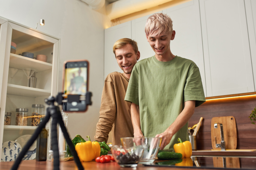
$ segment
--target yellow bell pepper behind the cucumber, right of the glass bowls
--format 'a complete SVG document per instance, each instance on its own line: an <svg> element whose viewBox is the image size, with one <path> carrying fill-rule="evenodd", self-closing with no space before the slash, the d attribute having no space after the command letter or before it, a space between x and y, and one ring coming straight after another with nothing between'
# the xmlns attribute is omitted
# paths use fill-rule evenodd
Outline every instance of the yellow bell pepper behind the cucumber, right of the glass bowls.
<svg viewBox="0 0 256 170"><path fill-rule="evenodd" d="M178 138L180 143L174 144L175 153L181 153L182 158L190 158L192 156L192 145L189 141L182 142L180 138Z"/></svg>

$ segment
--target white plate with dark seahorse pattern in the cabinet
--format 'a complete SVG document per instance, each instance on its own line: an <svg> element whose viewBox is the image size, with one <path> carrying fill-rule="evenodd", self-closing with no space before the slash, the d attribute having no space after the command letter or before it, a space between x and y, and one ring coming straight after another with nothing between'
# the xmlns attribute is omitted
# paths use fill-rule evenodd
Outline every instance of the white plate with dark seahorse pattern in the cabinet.
<svg viewBox="0 0 256 170"><path fill-rule="evenodd" d="M1 162L15 161L20 154L22 147L18 142L7 141L2 144Z"/></svg>

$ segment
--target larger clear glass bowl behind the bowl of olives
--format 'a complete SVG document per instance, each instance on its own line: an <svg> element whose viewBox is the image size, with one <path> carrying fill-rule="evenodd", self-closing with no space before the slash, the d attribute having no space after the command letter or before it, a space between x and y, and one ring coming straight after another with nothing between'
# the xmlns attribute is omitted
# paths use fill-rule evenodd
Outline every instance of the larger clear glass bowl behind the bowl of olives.
<svg viewBox="0 0 256 170"><path fill-rule="evenodd" d="M121 138L122 146L129 148L132 146L143 146L144 153L140 159L140 164L153 163L160 148L162 138Z"/></svg>

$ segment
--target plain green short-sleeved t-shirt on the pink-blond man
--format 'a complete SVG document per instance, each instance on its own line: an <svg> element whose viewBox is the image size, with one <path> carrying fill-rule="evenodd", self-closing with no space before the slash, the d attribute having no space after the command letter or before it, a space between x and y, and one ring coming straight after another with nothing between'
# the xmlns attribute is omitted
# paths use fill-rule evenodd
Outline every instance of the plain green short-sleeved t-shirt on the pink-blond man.
<svg viewBox="0 0 256 170"><path fill-rule="evenodd" d="M189 59L176 56L168 62L155 56L143 59L134 66L125 101L140 106L140 126L145 137L163 133L184 108L184 102L195 100L195 107L205 102L204 89L198 66ZM165 147L189 140L188 123Z"/></svg>

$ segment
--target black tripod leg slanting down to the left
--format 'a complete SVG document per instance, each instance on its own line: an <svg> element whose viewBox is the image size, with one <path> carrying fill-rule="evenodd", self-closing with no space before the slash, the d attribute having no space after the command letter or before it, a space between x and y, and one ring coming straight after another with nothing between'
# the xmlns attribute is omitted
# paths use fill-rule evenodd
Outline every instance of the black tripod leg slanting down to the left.
<svg viewBox="0 0 256 170"><path fill-rule="evenodd" d="M45 125L47 124L49 119L50 119L50 113L47 111L47 114L46 114L43 122L39 123L38 128L35 130L35 133L32 135L32 137L29 139L29 141L23 147L23 149L20 152L19 156L17 157L15 163L12 165L11 170L17 170L18 169L18 167L20 165L20 162L22 161L22 158L25 156L26 152L29 150L29 147L32 146L32 144L35 142L39 133L41 133L42 129L45 127Z"/></svg>

